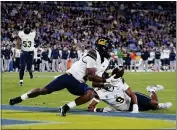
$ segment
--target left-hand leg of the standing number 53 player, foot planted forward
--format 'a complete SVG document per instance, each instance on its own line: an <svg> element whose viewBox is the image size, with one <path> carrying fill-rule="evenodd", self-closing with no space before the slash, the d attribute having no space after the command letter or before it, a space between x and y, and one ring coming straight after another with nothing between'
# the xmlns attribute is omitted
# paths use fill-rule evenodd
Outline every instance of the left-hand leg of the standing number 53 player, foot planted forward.
<svg viewBox="0 0 177 130"><path fill-rule="evenodd" d="M23 86L23 76L26 66L26 52L21 52L20 54L20 72L19 72L19 78L20 78L20 86Z"/></svg>

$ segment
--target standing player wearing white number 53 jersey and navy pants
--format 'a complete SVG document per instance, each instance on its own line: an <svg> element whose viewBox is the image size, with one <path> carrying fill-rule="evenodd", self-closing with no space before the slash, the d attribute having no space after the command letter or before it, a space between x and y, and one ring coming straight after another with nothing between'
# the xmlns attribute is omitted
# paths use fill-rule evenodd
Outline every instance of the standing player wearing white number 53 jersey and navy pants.
<svg viewBox="0 0 177 130"><path fill-rule="evenodd" d="M32 64L34 58L34 39L36 36L36 32L32 31L32 27L30 23L26 22L23 31L19 31L17 37L17 49L20 49L21 46L21 54L20 54L20 86L23 86L23 76L25 67L27 65L27 70L29 72L30 78L33 78L32 73Z"/></svg>

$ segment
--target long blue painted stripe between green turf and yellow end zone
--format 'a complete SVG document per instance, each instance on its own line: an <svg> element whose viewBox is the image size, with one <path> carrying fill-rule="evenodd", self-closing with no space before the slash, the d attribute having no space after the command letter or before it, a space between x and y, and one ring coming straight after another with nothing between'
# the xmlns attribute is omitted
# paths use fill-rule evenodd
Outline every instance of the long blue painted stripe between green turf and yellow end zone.
<svg viewBox="0 0 177 130"><path fill-rule="evenodd" d="M35 111L35 112L54 112L57 113L57 108L46 108L46 107L29 107L29 106L9 106L2 105L2 110L16 110L16 111ZM118 116L127 118L145 118L145 119L159 119L159 120L176 120L176 114L159 114L159 113L129 113L129 112L109 112L109 113L94 113L88 112L81 109L72 109L70 114L81 114L81 115L95 115L95 116Z"/></svg>

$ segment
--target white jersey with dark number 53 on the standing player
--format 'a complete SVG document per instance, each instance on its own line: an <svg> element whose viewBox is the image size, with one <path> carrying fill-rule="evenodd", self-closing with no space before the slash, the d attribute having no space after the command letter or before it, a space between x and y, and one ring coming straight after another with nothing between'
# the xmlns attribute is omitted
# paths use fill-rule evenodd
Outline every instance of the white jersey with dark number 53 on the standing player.
<svg viewBox="0 0 177 130"><path fill-rule="evenodd" d="M18 36L22 41L21 50L22 51L34 51L34 39L36 36L36 32L30 32L29 34L25 34L24 31L19 31Z"/></svg>

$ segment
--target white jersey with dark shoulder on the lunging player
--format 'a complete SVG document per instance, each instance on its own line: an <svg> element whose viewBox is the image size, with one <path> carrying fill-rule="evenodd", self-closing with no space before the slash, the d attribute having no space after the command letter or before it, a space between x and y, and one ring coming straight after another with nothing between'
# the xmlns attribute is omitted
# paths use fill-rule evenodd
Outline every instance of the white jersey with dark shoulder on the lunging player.
<svg viewBox="0 0 177 130"><path fill-rule="evenodd" d="M89 52L95 53L96 58L91 58L88 54ZM101 57L98 51L91 50L86 52L78 61L76 61L67 72L72 74L72 76L79 82L84 82L84 76L86 76L87 68L97 68L101 65Z"/></svg>

